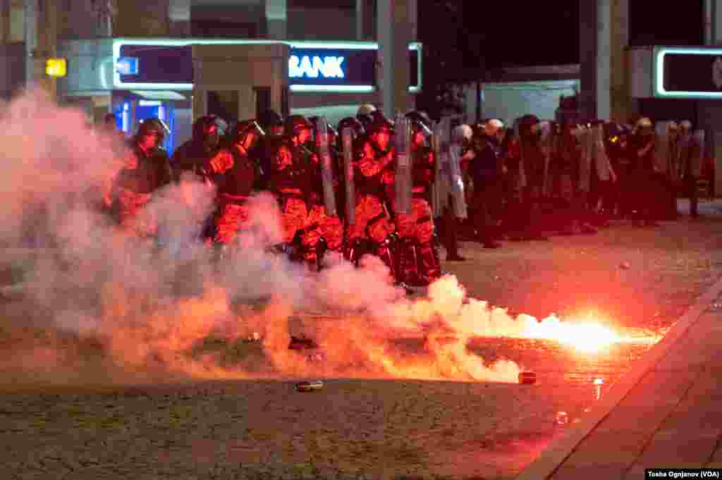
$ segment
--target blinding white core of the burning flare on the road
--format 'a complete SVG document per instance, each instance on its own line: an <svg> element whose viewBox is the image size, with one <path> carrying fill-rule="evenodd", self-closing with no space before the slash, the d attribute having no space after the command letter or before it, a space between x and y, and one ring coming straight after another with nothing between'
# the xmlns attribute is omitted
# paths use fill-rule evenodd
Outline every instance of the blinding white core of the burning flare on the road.
<svg viewBox="0 0 722 480"><path fill-rule="evenodd" d="M600 352L622 341L617 333L600 323L562 322L556 316L545 318L539 323L529 323L523 336L529 339L558 341L580 352L590 353Z"/></svg>

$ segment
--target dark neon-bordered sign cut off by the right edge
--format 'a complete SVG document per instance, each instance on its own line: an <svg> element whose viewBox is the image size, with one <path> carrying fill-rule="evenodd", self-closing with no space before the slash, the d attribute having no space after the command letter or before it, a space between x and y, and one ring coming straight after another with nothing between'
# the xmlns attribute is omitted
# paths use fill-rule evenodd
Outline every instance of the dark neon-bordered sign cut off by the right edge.
<svg viewBox="0 0 722 480"><path fill-rule="evenodd" d="M653 72L655 97L722 99L722 48L655 47Z"/></svg>

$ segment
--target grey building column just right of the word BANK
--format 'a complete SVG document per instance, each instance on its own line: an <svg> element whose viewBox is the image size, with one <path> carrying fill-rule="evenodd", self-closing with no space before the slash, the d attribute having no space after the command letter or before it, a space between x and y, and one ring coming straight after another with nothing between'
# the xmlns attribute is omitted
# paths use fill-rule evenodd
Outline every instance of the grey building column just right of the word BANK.
<svg viewBox="0 0 722 480"><path fill-rule="evenodd" d="M414 97L409 94L409 43L412 41L412 13L415 0L378 0L376 17L378 56L380 61L377 79L380 87L380 109L389 118L414 108Z"/></svg>

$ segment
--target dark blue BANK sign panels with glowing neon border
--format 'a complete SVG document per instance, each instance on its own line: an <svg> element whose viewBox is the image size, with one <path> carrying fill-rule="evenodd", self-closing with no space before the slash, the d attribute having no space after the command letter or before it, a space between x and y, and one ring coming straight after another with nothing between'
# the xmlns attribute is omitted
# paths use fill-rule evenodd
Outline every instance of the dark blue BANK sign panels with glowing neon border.
<svg viewBox="0 0 722 480"><path fill-rule="evenodd" d="M113 40L118 90L193 90L192 45L277 43L269 40ZM291 42L292 92L374 92L378 43ZM421 45L409 45L409 91L421 90Z"/></svg>

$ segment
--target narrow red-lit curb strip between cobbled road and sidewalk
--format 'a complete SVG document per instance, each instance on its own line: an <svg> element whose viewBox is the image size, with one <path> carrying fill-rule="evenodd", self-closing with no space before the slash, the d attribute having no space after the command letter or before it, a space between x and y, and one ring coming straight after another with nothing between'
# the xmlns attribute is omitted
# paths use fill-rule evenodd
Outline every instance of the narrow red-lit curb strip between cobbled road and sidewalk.
<svg viewBox="0 0 722 480"><path fill-rule="evenodd" d="M554 440L541 455L516 477L516 480L547 480L570 457L575 448L611 413L630 393L642 378L664 358L674 344L682 339L685 333L708 310L710 303L722 294L722 278L718 279L705 293L697 297L695 303L677 320L661 341L653 346L639 362L609 389L601 401L593 406L589 415L580 424L567 430L565 435Z"/></svg>

